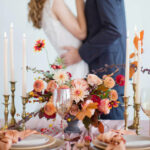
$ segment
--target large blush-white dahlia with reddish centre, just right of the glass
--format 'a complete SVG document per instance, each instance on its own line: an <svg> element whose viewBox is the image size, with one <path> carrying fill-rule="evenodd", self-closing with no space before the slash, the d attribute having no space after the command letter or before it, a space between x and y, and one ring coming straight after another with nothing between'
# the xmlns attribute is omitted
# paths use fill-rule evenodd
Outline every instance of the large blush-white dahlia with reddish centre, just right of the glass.
<svg viewBox="0 0 150 150"><path fill-rule="evenodd" d="M71 89L71 99L75 100L76 103L80 102L80 100L84 101L84 98L88 95L89 92L80 85Z"/></svg>

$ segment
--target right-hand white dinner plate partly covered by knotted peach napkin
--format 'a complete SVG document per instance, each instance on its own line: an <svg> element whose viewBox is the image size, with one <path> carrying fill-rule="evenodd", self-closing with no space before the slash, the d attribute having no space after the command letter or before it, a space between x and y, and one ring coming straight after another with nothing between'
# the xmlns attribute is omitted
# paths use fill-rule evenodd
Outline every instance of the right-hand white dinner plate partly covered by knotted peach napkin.
<svg viewBox="0 0 150 150"><path fill-rule="evenodd" d="M150 137L147 136L136 136L136 135L125 135L123 136L126 140L127 150L150 150ZM106 149L107 143L99 140L94 140L93 144L95 147Z"/></svg>

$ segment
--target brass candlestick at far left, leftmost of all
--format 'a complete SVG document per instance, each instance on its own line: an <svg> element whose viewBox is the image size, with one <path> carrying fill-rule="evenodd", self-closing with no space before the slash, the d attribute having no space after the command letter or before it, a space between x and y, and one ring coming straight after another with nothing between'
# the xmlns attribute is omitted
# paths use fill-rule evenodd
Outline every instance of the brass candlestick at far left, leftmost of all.
<svg viewBox="0 0 150 150"><path fill-rule="evenodd" d="M9 111L8 111L8 105L9 105L8 101L9 101L9 95L4 95L4 99L5 99L5 103L4 103L4 105L5 105L5 111L4 111L5 125L4 125L4 129L6 130L6 129L8 129L8 113L9 113Z"/></svg>

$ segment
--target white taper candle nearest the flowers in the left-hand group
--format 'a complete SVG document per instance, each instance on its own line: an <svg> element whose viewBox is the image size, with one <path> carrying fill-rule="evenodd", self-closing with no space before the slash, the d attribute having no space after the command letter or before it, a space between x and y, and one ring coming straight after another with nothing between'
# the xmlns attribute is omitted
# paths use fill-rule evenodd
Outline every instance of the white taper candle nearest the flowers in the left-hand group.
<svg viewBox="0 0 150 150"><path fill-rule="evenodd" d="M26 97L27 79L26 79L26 35L23 34L23 62L22 62L22 96Z"/></svg>

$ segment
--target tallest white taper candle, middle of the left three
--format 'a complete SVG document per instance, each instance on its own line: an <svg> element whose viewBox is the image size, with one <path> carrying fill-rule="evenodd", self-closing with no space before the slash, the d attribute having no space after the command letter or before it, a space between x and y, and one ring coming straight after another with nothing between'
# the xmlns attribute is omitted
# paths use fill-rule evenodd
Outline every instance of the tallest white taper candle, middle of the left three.
<svg viewBox="0 0 150 150"><path fill-rule="evenodd" d="M15 81L14 74L14 47L13 47L13 23L10 24L10 72L11 72L11 81Z"/></svg>

